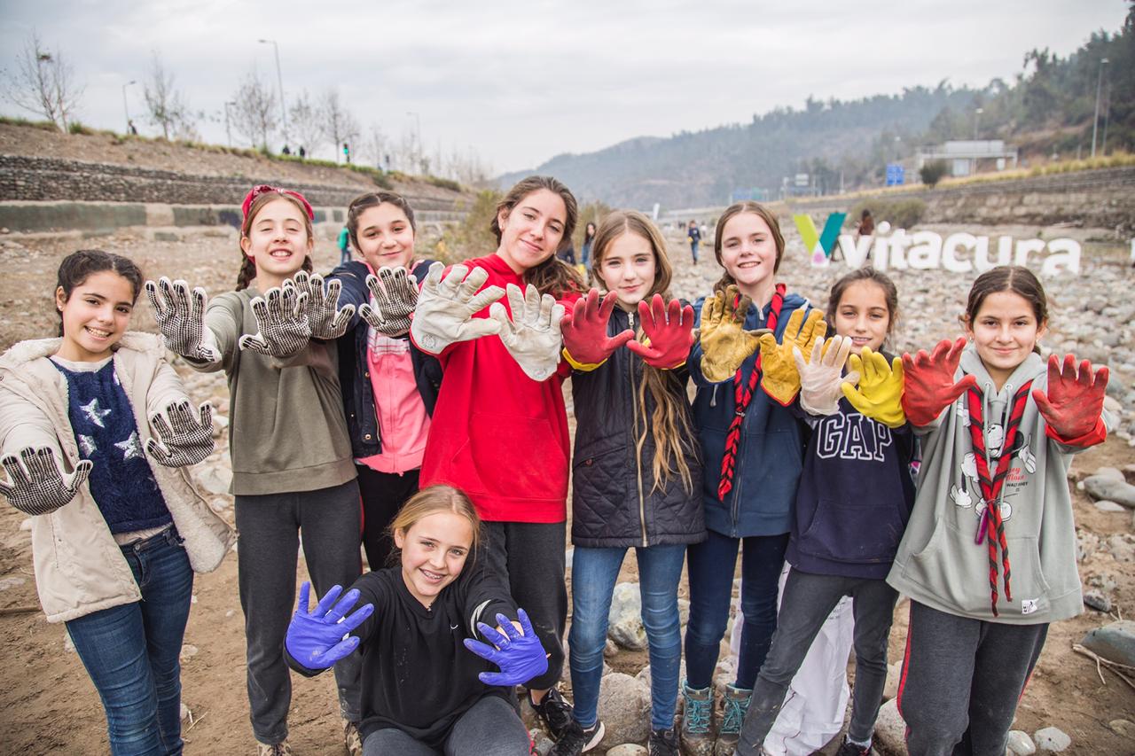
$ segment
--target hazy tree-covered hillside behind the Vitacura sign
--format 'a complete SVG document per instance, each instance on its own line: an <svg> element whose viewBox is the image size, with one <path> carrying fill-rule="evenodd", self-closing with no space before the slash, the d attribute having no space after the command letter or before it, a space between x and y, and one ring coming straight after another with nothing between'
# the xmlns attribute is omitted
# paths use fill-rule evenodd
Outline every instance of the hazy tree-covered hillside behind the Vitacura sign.
<svg viewBox="0 0 1135 756"><path fill-rule="evenodd" d="M809 174L823 193L880 186L893 160L907 163L908 182L917 180L917 149L948 140L1004 140L1028 165L1087 157L1098 83L1100 151L1135 151L1135 5L1118 32L1092 34L1067 58L1029 50L1023 64L1011 82L975 89L943 78L854 101L808 98L802 109L776 108L748 124L560 154L496 183L506 187L529 173L552 174L583 201L675 209L722 204L739 188L777 198L782 180L798 173Z"/></svg>

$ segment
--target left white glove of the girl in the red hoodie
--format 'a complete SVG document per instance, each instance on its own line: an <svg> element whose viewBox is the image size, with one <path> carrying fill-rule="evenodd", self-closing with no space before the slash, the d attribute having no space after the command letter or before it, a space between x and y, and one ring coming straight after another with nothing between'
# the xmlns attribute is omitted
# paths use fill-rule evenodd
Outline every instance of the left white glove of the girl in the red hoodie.
<svg viewBox="0 0 1135 756"><path fill-rule="evenodd" d="M469 272L465 266L453 266L444 279L445 263L429 267L418 305L410 325L410 335L422 350L440 354L449 344L468 342L481 336L501 333L501 322L494 318L473 318L486 306L504 296L499 286L487 286L478 293L489 274L484 268Z"/></svg>

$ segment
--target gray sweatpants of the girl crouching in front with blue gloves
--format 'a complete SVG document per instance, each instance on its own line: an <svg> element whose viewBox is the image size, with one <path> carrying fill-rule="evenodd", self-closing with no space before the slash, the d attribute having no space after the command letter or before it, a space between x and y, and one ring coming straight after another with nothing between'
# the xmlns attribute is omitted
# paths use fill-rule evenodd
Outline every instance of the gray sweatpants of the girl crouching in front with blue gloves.
<svg viewBox="0 0 1135 756"><path fill-rule="evenodd" d="M528 731L512 704L497 696L485 696L462 714L442 748L423 742L393 728L376 730L362 744L362 756L527 756Z"/></svg>

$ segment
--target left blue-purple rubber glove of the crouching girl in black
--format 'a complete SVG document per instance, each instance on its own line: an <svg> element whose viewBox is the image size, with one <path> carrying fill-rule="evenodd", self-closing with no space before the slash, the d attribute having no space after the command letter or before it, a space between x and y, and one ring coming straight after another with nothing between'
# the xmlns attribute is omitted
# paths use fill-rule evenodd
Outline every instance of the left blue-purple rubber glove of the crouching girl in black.
<svg viewBox="0 0 1135 756"><path fill-rule="evenodd" d="M292 658L309 670L326 670L359 647L361 641L356 636L343 636L362 624L373 613L375 605L364 604L354 614L344 616L359 600L359 591L352 589L338 600L343 587L333 586L316 610L309 612L310 591L310 582L300 586L300 604L287 625L284 647Z"/></svg>

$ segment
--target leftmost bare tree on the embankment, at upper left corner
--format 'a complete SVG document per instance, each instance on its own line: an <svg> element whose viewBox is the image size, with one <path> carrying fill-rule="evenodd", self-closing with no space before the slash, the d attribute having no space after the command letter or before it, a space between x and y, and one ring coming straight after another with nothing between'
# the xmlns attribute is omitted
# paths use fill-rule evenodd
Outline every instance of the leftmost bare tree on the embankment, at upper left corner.
<svg viewBox="0 0 1135 756"><path fill-rule="evenodd" d="M67 131L86 87L75 83L74 72L61 52L43 47L40 35L32 35L16 58L16 70L6 73L5 96Z"/></svg>

